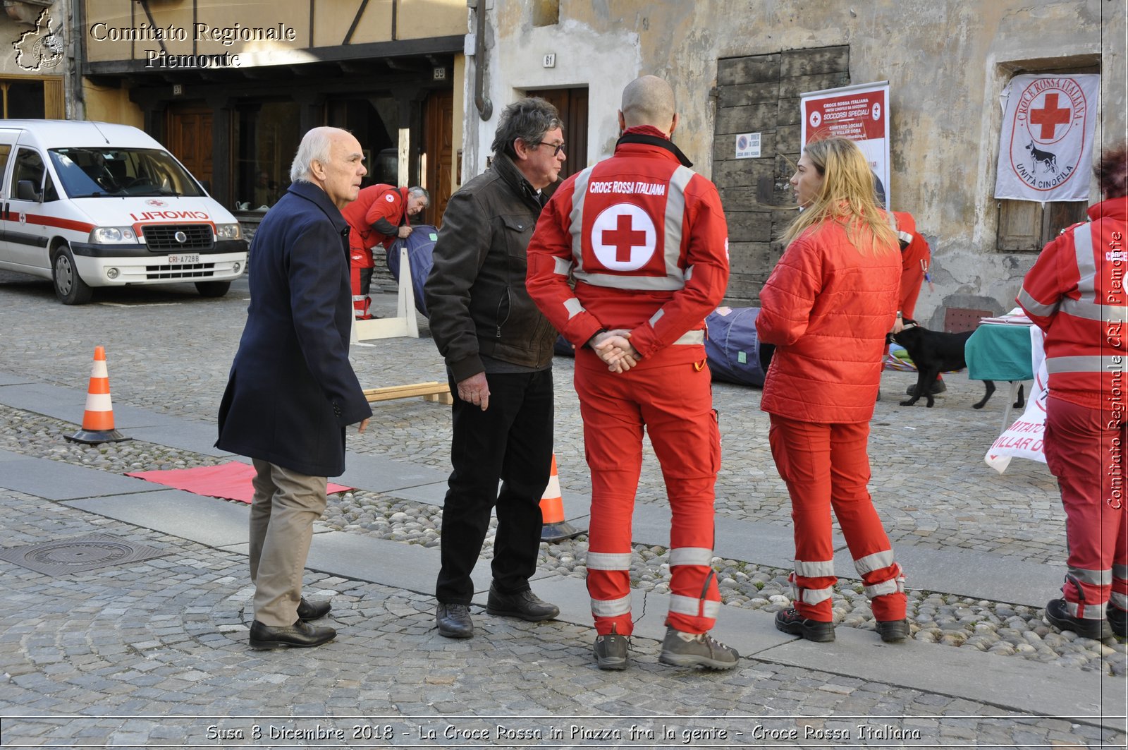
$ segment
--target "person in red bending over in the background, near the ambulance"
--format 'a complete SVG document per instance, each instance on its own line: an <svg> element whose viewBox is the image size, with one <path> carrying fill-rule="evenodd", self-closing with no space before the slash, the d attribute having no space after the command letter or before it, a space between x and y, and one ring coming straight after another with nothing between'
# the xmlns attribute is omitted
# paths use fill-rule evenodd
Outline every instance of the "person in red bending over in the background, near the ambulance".
<svg viewBox="0 0 1128 750"><path fill-rule="evenodd" d="M349 223L349 265L352 273L353 313L359 320L370 319L372 304L368 296L372 285L376 261L372 248L384 245L387 250L397 237L412 233L409 217L428 207L430 198L422 188L369 185L360 198L341 213Z"/></svg>

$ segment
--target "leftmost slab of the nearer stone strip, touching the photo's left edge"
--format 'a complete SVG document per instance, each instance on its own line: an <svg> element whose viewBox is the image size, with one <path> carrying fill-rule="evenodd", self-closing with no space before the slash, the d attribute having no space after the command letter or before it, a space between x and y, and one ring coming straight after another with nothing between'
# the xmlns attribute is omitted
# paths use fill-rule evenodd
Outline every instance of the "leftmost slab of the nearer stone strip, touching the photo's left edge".
<svg viewBox="0 0 1128 750"><path fill-rule="evenodd" d="M49 500L80 497L152 492L160 487L132 477L120 477L97 469L86 469L50 459L6 461L0 487L35 495Z"/></svg>

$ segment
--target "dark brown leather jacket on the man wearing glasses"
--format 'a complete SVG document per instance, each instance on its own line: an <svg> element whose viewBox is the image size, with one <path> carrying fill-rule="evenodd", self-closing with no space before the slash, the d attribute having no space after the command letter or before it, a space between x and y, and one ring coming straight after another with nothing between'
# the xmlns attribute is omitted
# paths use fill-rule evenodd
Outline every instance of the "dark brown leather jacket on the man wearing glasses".
<svg viewBox="0 0 1128 750"><path fill-rule="evenodd" d="M526 248L541 195L504 154L450 197L424 287L431 335L456 382L485 370L479 355L548 367L556 330L525 288Z"/></svg>

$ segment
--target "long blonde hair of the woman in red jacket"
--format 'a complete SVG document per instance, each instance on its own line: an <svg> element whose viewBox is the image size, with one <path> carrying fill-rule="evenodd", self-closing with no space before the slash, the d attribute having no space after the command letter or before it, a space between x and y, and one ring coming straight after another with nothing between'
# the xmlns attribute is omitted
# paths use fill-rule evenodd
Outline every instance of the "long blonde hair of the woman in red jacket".
<svg viewBox="0 0 1128 750"><path fill-rule="evenodd" d="M873 172L862 149L847 138L811 141L803 149L822 176L819 193L782 235L791 244L808 229L843 221L846 238L861 253L878 254L898 246L889 217L873 192Z"/></svg>

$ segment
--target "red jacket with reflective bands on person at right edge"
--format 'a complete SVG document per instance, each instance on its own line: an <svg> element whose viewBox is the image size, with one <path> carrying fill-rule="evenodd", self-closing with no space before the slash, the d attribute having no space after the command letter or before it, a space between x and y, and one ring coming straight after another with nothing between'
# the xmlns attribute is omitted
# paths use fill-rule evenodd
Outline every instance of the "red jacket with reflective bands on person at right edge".
<svg viewBox="0 0 1128 750"><path fill-rule="evenodd" d="M1042 248L1016 302L1046 332L1050 394L1122 412L1128 198L1102 201L1089 216Z"/></svg>

